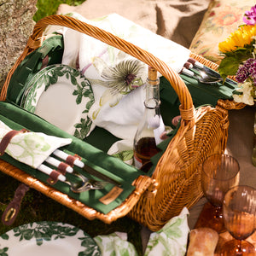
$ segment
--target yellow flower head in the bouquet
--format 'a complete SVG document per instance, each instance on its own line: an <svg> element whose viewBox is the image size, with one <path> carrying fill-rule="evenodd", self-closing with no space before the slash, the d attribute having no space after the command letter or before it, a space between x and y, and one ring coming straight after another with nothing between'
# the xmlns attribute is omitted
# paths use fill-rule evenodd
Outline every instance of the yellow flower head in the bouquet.
<svg viewBox="0 0 256 256"><path fill-rule="evenodd" d="M240 26L236 32L230 34L230 37L218 44L219 51L225 53L236 50L238 47L244 47L251 44L253 36L256 35L256 25Z"/></svg>

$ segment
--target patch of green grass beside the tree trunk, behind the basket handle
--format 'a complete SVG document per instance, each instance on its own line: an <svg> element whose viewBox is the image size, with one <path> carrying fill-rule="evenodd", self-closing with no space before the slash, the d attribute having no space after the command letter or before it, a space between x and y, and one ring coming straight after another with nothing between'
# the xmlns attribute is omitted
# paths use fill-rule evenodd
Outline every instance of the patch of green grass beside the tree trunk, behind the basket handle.
<svg viewBox="0 0 256 256"><path fill-rule="evenodd" d="M74 0L55 0L55 1L38 0L38 3L37 3L38 11L34 15L33 20L38 22L38 20L41 20L45 16L55 15L55 13L61 3L67 3L68 5L79 5L81 3L84 3L84 1L85 0L78 0L78 1L74 1Z"/></svg>

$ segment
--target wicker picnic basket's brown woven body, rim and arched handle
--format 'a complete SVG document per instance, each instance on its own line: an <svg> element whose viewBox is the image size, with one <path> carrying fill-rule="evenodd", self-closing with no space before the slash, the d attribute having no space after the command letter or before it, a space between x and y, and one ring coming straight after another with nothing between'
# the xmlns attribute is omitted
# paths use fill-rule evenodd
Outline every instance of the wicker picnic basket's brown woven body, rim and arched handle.
<svg viewBox="0 0 256 256"><path fill-rule="evenodd" d="M190 208L201 198L201 163L210 154L224 152L229 128L228 110L243 108L243 104L219 100L215 108L205 106L195 109L183 80L166 63L109 32L64 15L51 15L38 21L32 36L28 39L26 49L9 72L1 92L1 101L6 100L9 80L16 67L26 55L41 46L44 29L49 25L67 26L83 32L156 68L172 84L181 102L180 127L160 158L152 177L138 177L133 183L136 188L134 192L108 214L96 212L95 209L38 181L3 160L0 160L0 170L90 220L98 218L110 224L128 214L148 229L160 230L170 218L179 214L183 207ZM218 67L201 56L193 54L191 56L212 69Z"/></svg>

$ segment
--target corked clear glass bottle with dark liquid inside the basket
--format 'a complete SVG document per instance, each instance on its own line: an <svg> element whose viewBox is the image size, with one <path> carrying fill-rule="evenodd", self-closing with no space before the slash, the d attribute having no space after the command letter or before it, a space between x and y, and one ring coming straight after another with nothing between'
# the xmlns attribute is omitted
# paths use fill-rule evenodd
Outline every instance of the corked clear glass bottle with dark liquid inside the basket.
<svg viewBox="0 0 256 256"><path fill-rule="evenodd" d="M157 144L161 142L160 134L165 131L165 125L160 116L160 79L154 67L148 67L146 84L145 111L143 119L137 127L134 137L134 166L148 172L152 163L150 158L160 149Z"/></svg>

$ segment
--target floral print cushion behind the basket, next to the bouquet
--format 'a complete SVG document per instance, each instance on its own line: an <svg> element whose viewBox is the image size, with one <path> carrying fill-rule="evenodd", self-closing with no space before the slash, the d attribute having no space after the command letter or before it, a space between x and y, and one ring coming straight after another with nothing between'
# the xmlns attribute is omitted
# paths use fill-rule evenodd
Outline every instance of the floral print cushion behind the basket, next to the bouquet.
<svg viewBox="0 0 256 256"><path fill-rule="evenodd" d="M218 43L224 41L242 23L242 17L254 0L211 0L189 49L210 61L220 63Z"/></svg>

